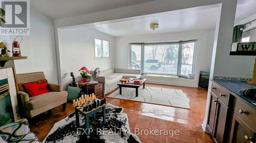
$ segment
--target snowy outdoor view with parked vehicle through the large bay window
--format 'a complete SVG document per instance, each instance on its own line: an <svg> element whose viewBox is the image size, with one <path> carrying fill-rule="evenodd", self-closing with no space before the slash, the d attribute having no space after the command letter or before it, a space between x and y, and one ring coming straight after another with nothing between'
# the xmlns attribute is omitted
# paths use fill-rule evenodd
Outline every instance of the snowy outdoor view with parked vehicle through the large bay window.
<svg viewBox="0 0 256 143"><path fill-rule="evenodd" d="M192 74L195 42L131 44L131 69L148 74Z"/></svg>

